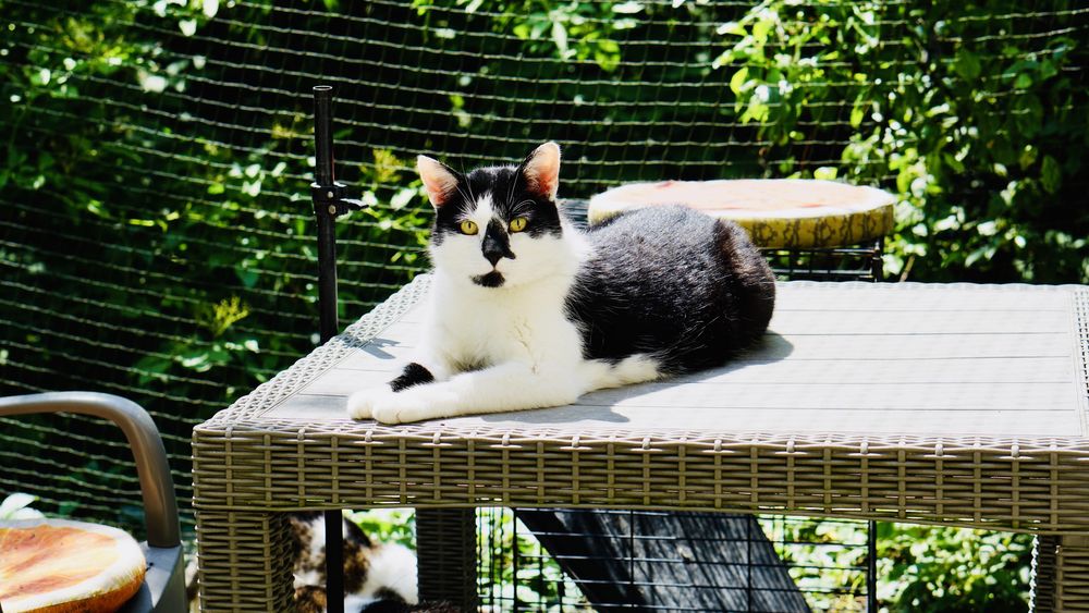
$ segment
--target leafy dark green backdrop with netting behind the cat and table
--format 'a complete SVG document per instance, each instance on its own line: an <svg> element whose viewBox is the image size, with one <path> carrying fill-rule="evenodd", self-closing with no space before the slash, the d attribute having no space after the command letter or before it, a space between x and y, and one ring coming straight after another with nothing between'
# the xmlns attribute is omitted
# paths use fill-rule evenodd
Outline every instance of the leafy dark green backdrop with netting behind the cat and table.
<svg viewBox="0 0 1089 613"><path fill-rule="evenodd" d="M878 185L898 196L893 279L1089 282L1079 2L0 0L0 393L136 400L183 500L192 425L316 342L318 83L371 204L340 225L343 319L426 268L417 152L467 168L544 139L565 197ZM91 420L4 420L0 490L132 525L125 453ZM885 534L886 600L1020 598L1024 538L964 534Z"/></svg>

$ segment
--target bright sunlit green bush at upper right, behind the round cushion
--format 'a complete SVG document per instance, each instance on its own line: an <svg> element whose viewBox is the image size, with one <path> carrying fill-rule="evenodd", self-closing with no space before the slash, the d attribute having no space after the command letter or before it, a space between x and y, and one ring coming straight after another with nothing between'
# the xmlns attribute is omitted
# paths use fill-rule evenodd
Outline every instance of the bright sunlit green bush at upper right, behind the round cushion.
<svg viewBox="0 0 1089 613"><path fill-rule="evenodd" d="M894 273L1086 283L1082 41L994 36L1018 17L988 16L1020 7L767 0L719 28L715 64L734 70L741 121L779 147L853 100L841 175L900 194ZM784 157L776 174L807 175Z"/></svg>

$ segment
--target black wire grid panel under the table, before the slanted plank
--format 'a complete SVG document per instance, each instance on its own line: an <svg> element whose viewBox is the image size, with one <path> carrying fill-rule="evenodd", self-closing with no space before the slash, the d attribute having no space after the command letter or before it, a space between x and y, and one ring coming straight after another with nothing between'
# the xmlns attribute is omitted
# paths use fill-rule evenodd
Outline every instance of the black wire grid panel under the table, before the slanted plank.
<svg viewBox="0 0 1089 613"><path fill-rule="evenodd" d="M533 513L478 512L481 610L867 610L865 522Z"/></svg>

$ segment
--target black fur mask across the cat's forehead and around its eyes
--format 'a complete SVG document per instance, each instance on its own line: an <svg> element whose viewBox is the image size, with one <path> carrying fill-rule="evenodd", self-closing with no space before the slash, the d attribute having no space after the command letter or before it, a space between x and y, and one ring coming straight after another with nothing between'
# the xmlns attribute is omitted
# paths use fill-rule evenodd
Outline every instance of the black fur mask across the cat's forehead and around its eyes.
<svg viewBox="0 0 1089 613"><path fill-rule="evenodd" d="M523 167L481 168L457 177L457 192L452 194L435 216L435 226L431 230L431 241L442 244L450 234L461 234L458 224L462 216L476 209L477 200L485 195L491 195L491 206L504 222L516 217L526 218L526 229L523 232L530 236L543 234L560 235L560 211L547 195L537 194L528 188L523 174ZM505 257L517 257L510 253L510 236L506 223L497 224L495 230L505 245ZM492 231L489 224L488 232ZM485 229L481 229L484 231ZM481 257L484 257L481 255Z"/></svg>

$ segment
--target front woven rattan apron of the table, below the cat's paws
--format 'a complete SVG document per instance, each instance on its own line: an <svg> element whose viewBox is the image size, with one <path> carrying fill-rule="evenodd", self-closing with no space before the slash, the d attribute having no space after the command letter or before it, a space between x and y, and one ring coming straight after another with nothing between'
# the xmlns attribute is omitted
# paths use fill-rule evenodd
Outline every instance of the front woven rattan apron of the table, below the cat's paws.
<svg viewBox="0 0 1089 613"><path fill-rule="evenodd" d="M778 512L1089 534L1089 443L233 429L194 441L198 510L575 506ZM923 443L923 444L919 444ZM1074 444L1076 443L1076 444Z"/></svg>

